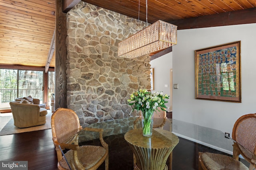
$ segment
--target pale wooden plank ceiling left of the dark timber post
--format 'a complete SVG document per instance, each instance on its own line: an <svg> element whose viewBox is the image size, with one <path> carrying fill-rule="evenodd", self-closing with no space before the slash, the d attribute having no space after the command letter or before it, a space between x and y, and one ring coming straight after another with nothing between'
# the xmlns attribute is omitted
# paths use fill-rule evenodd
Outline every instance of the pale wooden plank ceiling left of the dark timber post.
<svg viewBox="0 0 256 170"><path fill-rule="evenodd" d="M0 64L45 66L54 13L55 0L0 0Z"/></svg>

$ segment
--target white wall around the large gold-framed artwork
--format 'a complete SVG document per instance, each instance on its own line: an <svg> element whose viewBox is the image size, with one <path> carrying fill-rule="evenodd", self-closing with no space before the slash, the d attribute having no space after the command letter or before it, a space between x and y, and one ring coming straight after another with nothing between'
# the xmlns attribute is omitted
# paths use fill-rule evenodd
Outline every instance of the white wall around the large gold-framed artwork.
<svg viewBox="0 0 256 170"><path fill-rule="evenodd" d="M172 48L172 117L232 134L240 116L256 112L256 23L178 30ZM241 41L242 103L195 99L195 50ZM161 58L161 57L160 57Z"/></svg>

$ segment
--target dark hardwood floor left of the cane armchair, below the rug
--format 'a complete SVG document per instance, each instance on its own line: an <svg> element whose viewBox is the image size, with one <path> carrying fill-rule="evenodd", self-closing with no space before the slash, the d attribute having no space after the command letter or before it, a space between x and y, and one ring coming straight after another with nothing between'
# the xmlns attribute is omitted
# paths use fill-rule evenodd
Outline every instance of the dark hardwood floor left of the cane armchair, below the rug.
<svg viewBox="0 0 256 170"><path fill-rule="evenodd" d="M29 170L57 170L52 130L0 136L0 160L28 161Z"/></svg>

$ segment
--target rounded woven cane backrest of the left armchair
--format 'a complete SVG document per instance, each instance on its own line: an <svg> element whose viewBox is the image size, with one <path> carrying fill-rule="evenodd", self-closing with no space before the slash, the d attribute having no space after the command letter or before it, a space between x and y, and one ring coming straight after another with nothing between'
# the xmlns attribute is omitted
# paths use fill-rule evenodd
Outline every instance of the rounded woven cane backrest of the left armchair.
<svg viewBox="0 0 256 170"><path fill-rule="evenodd" d="M77 114L71 109L58 108L52 114L52 136L63 143L81 128Z"/></svg>

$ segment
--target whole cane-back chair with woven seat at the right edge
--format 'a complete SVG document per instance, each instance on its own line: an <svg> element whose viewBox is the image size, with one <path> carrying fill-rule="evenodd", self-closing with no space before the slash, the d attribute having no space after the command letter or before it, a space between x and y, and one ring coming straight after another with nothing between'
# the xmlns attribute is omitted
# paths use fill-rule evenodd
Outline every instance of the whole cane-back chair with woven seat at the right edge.
<svg viewBox="0 0 256 170"><path fill-rule="evenodd" d="M233 158L222 154L199 152L199 170L248 170L238 161L241 154L250 163L249 170L255 168L256 163L256 113L247 114L237 119L232 131Z"/></svg>

